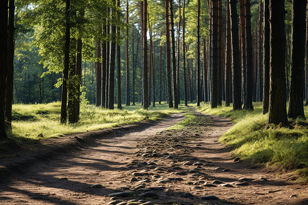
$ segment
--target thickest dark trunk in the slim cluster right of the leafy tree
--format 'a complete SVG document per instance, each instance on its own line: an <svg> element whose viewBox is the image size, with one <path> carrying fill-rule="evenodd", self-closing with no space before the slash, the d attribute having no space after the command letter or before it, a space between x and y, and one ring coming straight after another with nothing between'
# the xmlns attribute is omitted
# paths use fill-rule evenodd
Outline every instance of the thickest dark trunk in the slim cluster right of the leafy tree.
<svg viewBox="0 0 308 205"><path fill-rule="evenodd" d="M114 0L116 4L116 0ZM115 18L116 10L112 10L112 20ZM110 45L110 68L109 68L109 86L108 86L108 108L114 109L114 70L116 64L116 26L112 24L111 45Z"/></svg>

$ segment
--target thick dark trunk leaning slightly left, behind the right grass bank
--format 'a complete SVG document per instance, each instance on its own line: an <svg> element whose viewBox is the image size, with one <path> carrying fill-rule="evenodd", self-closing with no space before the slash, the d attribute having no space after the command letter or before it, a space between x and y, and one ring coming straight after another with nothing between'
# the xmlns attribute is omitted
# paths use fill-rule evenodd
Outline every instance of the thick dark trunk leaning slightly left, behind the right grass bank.
<svg viewBox="0 0 308 205"><path fill-rule="evenodd" d="M230 0L231 14L231 40L232 40L232 75L233 75L233 110L242 109L241 94L241 66L240 66L240 49L238 41L238 12L236 10L236 0Z"/></svg>

